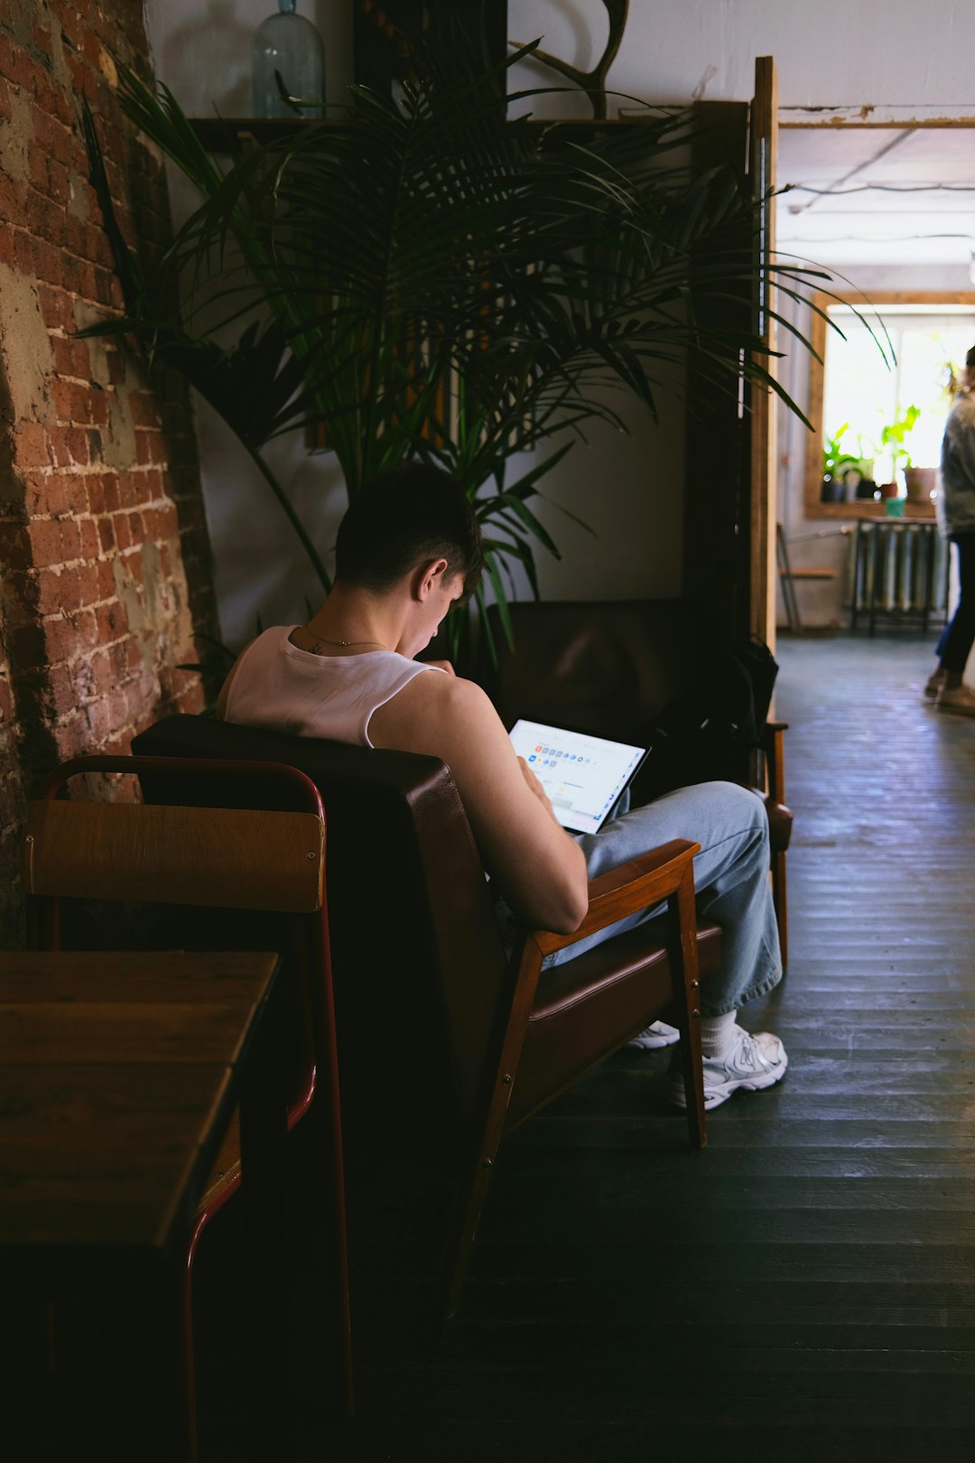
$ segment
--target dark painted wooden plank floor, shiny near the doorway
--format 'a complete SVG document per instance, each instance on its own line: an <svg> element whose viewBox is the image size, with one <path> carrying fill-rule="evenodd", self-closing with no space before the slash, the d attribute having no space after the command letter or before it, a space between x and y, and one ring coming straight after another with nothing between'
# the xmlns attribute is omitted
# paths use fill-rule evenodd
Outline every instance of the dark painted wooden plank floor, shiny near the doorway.
<svg viewBox="0 0 975 1463"><path fill-rule="evenodd" d="M788 1077L700 1154L658 1055L553 1105L436 1344L444 1195L355 1186L358 1415L319 1428L303 1368L298 1463L975 1457L975 724L922 704L928 641L779 660L792 958L748 1024Z"/></svg>

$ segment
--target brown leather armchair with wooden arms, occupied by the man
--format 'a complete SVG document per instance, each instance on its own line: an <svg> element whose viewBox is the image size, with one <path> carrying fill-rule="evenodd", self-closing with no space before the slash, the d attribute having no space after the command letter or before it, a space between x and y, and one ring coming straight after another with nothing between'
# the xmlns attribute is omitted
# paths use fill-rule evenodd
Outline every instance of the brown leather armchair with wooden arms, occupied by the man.
<svg viewBox="0 0 975 1463"><path fill-rule="evenodd" d="M699 955L700 970L712 970L721 935L716 926L696 930L696 844L668 844L593 881L577 935L528 933L509 961L453 778L436 758L199 717L170 717L136 749L281 759L322 791L342 1090L355 1087L379 1107L389 1148L401 1146L459 1186L444 1317L458 1304L504 1134L662 1011L684 1036L690 1138L705 1143ZM143 775L151 797L155 781ZM256 796L246 778L225 791L240 805ZM662 900L669 920L541 970L550 951ZM379 1018L392 1040L377 1040Z"/></svg>

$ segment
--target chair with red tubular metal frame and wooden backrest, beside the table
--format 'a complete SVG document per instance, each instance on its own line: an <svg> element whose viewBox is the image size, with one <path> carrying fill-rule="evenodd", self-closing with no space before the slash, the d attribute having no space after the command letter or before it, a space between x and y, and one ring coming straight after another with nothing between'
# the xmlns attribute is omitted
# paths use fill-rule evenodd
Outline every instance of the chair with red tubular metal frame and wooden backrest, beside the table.
<svg viewBox="0 0 975 1463"><path fill-rule="evenodd" d="M172 790L172 768L153 759L155 783ZM48 778L47 797L29 808L25 841L29 944L76 948L89 932L79 923L89 906L107 906L118 920L118 903L137 906L133 925L142 936L127 948L275 949L282 958L282 1043L285 1083L282 1122L306 1118L314 1127L320 1163L313 1201L329 1248L333 1295L323 1314L332 1324L336 1358L336 1410L352 1410L345 1197L339 1119L335 1017L332 1001L327 911L325 906L325 813L314 784L281 764L254 761L186 761L175 764L184 803L63 800L67 784L82 774L143 774L139 758L86 756L67 762ZM273 811L225 806L222 784L246 780ZM224 803L224 805L222 805ZM196 806L193 806L196 805ZM151 909L165 906L161 932L145 929ZM79 909L80 907L80 909ZM130 916L133 910L129 910ZM111 933L111 923L95 933ZM159 942L161 938L161 942ZM143 939L152 939L145 944ZM102 948L101 942L96 948ZM287 1106L287 1113L285 1113ZM186 1260L184 1359L190 1418L194 1412L191 1274L197 1241L216 1211L241 1186L241 1134L228 1135L196 1214ZM251 1194L244 1166L246 1216L269 1195ZM284 1176L278 1175L284 1182ZM279 1200L279 1195L276 1197ZM272 1198L272 1203L276 1200ZM260 1261L281 1293L282 1255ZM273 1333L262 1334L273 1324ZM327 1323L325 1323L327 1324ZM254 1456L278 1447L284 1416L284 1318L272 1304L253 1327L260 1375L251 1377ZM273 1399L278 1406L263 1404Z"/></svg>

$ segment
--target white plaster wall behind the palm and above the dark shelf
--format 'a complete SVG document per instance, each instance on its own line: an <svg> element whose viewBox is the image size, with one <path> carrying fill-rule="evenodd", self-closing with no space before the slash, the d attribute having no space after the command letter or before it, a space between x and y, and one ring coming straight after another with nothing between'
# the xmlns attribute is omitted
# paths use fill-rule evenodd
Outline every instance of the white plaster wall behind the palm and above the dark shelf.
<svg viewBox="0 0 975 1463"><path fill-rule="evenodd" d="M273 0L145 0L156 75L187 113L249 110L250 40L272 9ZM325 38L327 95L339 101L351 80L351 3L298 0L298 9ZM599 0L509 0L512 38L544 35L548 50L574 64L591 66L605 34ZM785 116L804 116L804 108L848 116L861 107L874 120L975 114L963 101L971 95L975 10L947 0L922 40L919 57L917 13L874 0L819 0L816 7L797 0L631 0L610 85L653 102L743 99L751 95L754 57L773 54ZM517 73L512 86L558 80L536 64ZM577 98L550 98L547 110L586 113ZM187 206L177 192L177 217ZM630 437L593 429L591 445L576 448L547 483L547 494L599 535L591 538L553 506L542 509L563 549L560 562L544 552L539 557L547 598L677 593L684 417L677 402L662 408L661 427L634 410ZM222 632L237 645L253 633L257 616L263 623L304 617L317 587L253 465L205 408L199 430ZM287 439L275 445L273 461L327 549L344 506L333 458L310 458L300 440Z"/></svg>

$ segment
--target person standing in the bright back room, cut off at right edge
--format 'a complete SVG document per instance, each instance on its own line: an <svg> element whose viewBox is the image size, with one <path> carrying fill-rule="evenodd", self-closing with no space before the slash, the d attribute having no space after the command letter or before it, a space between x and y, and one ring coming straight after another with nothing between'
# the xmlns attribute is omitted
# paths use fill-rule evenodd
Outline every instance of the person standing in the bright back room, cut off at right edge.
<svg viewBox="0 0 975 1463"><path fill-rule="evenodd" d="M975 717L975 692L962 680L975 642L975 345L965 357L962 385L941 442L941 531L957 547L959 601L937 642L937 670L924 688L936 711Z"/></svg>

